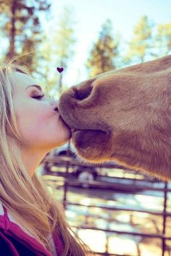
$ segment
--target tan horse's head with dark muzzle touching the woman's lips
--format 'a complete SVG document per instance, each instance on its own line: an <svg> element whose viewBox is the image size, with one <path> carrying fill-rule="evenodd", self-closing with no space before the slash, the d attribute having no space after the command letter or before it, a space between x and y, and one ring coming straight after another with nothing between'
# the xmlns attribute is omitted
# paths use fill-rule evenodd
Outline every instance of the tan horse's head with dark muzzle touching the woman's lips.
<svg viewBox="0 0 171 256"><path fill-rule="evenodd" d="M59 112L83 160L171 178L171 55L72 86Z"/></svg>

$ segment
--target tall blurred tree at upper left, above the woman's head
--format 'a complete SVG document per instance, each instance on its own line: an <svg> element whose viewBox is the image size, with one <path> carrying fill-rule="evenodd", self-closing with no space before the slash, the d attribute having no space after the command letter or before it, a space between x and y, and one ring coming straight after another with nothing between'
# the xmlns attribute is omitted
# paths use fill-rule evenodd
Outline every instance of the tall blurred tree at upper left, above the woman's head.
<svg viewBox="0 0 171 256"><path fill-rule="evenodd" d="M1 61L36 51L42 40L38 12L49 12L49 9L50 4L46 0L0 0L1 35L8 42ZM18 62L27 64L33 71L36 69L35 54L25 55Z"/></svg>

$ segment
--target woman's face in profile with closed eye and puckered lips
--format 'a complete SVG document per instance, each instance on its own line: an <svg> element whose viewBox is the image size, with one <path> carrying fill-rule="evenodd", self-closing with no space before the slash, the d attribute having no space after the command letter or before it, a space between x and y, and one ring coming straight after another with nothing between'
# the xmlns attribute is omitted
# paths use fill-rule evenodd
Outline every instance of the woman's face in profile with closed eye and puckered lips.
<svg viewBox="0 0 171 256"><path fill-rule="evenodd" d="M57 102L43 96L36 81L28 75L14 72L16 88L14 108L23 145L30 150L49 152L62 146L71 137L70 128L59 115Z"/></svg>

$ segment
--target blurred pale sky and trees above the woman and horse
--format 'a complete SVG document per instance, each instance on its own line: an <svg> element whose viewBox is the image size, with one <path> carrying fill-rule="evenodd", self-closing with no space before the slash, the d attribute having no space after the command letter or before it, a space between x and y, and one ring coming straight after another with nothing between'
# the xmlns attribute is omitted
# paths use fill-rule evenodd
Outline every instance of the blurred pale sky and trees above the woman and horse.
<svg viewBox="0 0 171 256"><path fill-rule="evenodd" d="M93 75L170 54L169 0L0 0L0 12L1 62L33 51L18 61L55 98Z"/></svg>

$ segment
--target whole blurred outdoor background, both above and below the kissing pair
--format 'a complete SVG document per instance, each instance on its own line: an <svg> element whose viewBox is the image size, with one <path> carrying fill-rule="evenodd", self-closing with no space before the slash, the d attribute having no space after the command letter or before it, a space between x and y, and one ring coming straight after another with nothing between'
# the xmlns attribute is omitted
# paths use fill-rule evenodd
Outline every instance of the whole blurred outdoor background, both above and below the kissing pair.
<svg viewBox="0 0 171 256"><path fill-rule="evenodd" d="M18 57L59 99L93 75L170 54L171 1L0 0L0 39L0 63ZM85 164L70 144L38 173L96 255L171 255L170 183L116 162Z"/></svg>

